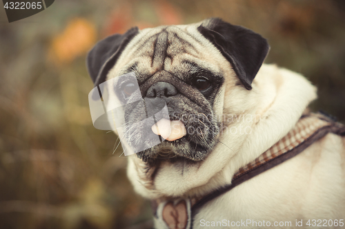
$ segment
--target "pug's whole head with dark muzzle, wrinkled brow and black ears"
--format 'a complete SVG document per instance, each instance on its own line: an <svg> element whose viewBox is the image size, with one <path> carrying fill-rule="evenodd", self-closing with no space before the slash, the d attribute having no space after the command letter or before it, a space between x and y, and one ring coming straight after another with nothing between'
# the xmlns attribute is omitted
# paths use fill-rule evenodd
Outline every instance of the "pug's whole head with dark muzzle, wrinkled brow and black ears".
<svg viewBox="0 0 345 229"><path fill-rule="evenodd" d="M149 163L197 162L218 141L226 90L250 90L267 52L268 44L259 34L208 19L110 36L90 51L88 69L95 85L124 74L135 76L135 82L133 77L118 82L113 93L126 104L126 142L135 150L146 146L138 157ZM133 102L138 93L144 100ZM168 119L186 133L153 144L157 135L152 123L139 121L155 116L165 105Z"/></svg>

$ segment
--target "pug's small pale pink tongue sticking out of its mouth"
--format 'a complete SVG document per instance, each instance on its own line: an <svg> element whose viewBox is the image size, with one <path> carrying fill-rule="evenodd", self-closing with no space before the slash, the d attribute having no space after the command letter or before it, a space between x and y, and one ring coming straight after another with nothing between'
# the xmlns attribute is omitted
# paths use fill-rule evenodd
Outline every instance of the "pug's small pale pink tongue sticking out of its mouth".
<svg viewBox="0 0 345 229"><path fill-rule="evenodd" d="M186 127L181 121L170 121L162 118L157 123L153 124L151 127L153 133L161 135L162 138L168 141L175 141L186 135Z"/></svg>

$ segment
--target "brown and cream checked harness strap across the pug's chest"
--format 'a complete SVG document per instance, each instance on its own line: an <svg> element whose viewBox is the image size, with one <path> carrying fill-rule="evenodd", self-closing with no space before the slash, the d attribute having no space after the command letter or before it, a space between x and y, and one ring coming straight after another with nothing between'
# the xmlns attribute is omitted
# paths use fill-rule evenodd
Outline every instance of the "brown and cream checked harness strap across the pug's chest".
<svg viewBox="0 0 345 229"><path fill-rule="evenodd" d="M313 142L323 138L327 133L345 135L345 126L335 122L322 113L309 113L302 116L287 135L253 162L246 164L235 173L231 184L208 193L201 198L174 199L173 201L151 201L153 213L160 228L193 228L193 218L204 204L219 197L246 180L281 164L301 153Z"/></svg>

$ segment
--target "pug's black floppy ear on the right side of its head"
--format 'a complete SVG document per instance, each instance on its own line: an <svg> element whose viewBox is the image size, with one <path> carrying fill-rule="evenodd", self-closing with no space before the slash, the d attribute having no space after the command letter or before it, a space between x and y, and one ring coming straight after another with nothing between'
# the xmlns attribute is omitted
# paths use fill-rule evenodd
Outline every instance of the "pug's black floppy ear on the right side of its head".
<svg viewBox="0 0 345 229"><path fill-rule="evenodd" d="M244 87L252 89L251 83L270 49L266 39L217 18L204 21L197 30L230 62Z"/></svg>

